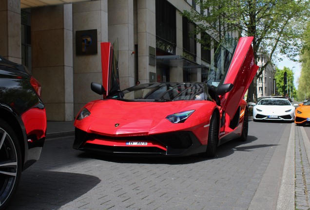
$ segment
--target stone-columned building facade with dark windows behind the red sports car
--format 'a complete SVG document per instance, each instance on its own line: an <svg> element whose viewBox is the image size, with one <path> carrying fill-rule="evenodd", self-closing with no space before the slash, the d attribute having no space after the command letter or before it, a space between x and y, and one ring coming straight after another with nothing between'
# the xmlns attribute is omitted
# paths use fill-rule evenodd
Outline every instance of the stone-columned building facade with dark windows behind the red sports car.
<svg viewBox="0 0 310 210"><path fill-rule="evenodd" d="M73 121L101 98L90 89L102 82L101 42L118 42L121 89L206 79L213 50L195 38L211 37L192 35L195 24L181 15L194 0L66 1L0 0L0 54L39 80L47 120Z"/></svg>

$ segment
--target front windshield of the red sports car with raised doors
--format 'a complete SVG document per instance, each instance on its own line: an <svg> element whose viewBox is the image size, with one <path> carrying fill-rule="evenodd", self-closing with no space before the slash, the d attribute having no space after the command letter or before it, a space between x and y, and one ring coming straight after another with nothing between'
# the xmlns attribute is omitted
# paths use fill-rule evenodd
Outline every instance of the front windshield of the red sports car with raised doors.
<svg viewBox="0 0 310 210"><path fill-rule="evenodd" d="M202 83L147 83L137 85L108 99L138 101L206 100L207 85Z"/></svg>

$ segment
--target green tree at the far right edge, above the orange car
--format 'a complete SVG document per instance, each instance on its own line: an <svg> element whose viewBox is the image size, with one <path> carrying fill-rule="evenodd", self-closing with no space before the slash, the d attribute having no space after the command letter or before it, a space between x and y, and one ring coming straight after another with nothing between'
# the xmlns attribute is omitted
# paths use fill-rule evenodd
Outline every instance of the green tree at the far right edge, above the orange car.
<svg viewBox="0 0 310 210"><path fill-rule="evenodd" d="M307 24L307 29L303 35L304 45L301 51L301 72L298 79L298 100L310 99L310 22Z"/></svg>

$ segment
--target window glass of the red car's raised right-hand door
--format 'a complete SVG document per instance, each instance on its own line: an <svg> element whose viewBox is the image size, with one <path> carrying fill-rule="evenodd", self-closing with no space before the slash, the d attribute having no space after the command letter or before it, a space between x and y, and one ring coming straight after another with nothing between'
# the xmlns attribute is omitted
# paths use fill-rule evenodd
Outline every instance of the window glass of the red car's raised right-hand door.
<svg viewBox="0 0 310 210"><path fill-rule="evenodd" d="M232 56L237 46L237 40L234 38L223 39L214 53L214 59L211 62L208 85L217 87L223 84L229 66L232 62Z"/></svg>

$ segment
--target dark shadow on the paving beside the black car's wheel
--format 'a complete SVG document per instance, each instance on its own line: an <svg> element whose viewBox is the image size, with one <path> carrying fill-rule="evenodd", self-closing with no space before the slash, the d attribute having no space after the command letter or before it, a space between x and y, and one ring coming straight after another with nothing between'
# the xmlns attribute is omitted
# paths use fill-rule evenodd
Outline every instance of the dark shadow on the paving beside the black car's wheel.
<svg viewBox="0 0 310 210"><path fill-rule="evenodd" d="M92 175L26 170L7 210L59 209L93 189L100 181Z"/></svg>

